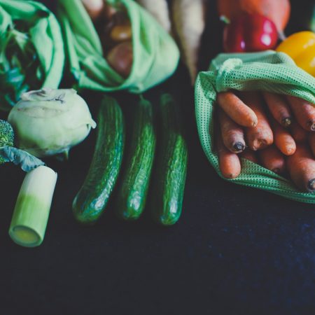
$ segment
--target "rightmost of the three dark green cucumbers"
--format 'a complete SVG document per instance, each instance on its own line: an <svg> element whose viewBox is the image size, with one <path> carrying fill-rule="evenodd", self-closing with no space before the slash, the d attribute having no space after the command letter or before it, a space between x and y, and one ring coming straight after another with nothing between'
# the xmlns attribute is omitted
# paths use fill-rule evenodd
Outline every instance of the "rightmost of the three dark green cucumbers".
<svg viewBox="0 0 315 315"><path fill-rule="evenodd" d="M188 149L183 137L179 106L170 94L160 99L161 130L151 194L153 218L173 225L181 216L186 182Z"/></svg>

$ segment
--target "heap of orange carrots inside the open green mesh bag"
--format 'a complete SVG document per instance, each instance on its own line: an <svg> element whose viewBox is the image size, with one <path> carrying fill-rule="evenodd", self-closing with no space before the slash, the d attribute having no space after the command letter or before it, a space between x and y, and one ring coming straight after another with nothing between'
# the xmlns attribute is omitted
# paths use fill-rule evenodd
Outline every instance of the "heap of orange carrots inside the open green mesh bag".
<svg viewBox="0 0 315 315"><path fill-rule="evenodd" d="M315 191L313 105L270 92L221 92L217 103L216 146L223 176L239 176L239 154L272 172L289 175L302 191Z"/></svg>

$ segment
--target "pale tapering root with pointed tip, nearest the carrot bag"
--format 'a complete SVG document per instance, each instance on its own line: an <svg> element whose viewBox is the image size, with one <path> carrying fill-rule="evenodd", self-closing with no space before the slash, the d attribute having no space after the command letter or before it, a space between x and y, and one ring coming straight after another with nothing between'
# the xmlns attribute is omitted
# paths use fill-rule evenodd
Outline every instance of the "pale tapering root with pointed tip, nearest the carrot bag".
<svg viewBox="0 0 315 315"><path fill-rule="evenodd" d="M205 26L204 1L174 0L172 1L172 16L182 50L183 62L188 68L191 83L194 85L200 43Z"/></svg>

